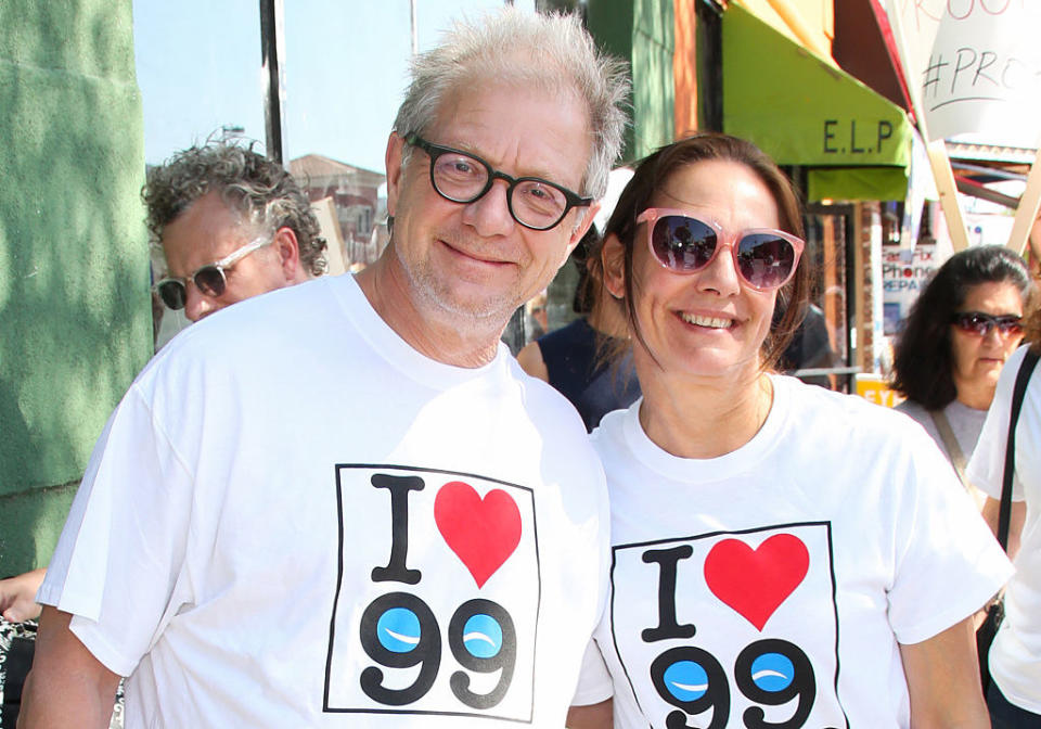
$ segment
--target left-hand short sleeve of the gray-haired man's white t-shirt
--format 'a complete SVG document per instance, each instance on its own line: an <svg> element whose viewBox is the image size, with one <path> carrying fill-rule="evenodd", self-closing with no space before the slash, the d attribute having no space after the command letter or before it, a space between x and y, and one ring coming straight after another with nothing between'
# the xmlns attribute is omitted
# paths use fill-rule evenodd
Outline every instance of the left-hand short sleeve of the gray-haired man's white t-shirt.
<svg viewBox="0 0 1041 729"><path fill-rule="evenodd" d="M129 675L156 640L184 558L191 479L136 386L91 456L37 596Z"/></svg>

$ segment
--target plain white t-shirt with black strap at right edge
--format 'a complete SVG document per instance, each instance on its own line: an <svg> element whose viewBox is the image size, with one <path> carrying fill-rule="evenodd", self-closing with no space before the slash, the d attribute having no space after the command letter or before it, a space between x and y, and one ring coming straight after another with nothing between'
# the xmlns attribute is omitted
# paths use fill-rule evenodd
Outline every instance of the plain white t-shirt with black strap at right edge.
<svg viewBox="0 0 1041 729"><path fill-rule="evenodd" d="M1001 499L1012 391L1026 350L1020 347L1005 362L968 462L969 479L993 499ZM990 647L990 674L1008 701L1041 714L1041 368L1030 378L1019 411L1015 459L1012 500L1026 500L1027 516L1016 574L1005 590L1005 619Z"/></svg>

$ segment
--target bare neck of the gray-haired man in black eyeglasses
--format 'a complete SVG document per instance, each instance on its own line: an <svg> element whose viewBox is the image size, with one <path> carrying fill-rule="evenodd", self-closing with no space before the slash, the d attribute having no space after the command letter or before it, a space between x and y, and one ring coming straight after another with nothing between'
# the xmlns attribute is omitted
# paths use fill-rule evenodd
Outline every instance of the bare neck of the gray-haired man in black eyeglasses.
<svg viewBox="0 0 1041 729"><path fill-rule="evenodd" d="M387 252L355 276L369 304L409 346L454 367L476 368L496 357L505 322L462 317L417 302L416 292Z"/></svg>

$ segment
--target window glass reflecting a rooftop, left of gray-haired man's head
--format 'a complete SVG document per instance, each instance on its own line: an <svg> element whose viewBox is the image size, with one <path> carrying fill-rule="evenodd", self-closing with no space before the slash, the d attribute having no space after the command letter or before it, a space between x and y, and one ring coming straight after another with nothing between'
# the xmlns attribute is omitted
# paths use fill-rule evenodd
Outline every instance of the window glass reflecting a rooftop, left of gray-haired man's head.
<svg viewBox="0 0 1041 729"><path fill-rule="evenodd" d="M384 153L404 93L413 40L434 46L452 20L502 0L285 3L285 158L316 202L327 199L339 242L333 272L358 270L387 242ZM415 11L413 29L412 11ZM414 31L414 33L413 33Z"/></svg>

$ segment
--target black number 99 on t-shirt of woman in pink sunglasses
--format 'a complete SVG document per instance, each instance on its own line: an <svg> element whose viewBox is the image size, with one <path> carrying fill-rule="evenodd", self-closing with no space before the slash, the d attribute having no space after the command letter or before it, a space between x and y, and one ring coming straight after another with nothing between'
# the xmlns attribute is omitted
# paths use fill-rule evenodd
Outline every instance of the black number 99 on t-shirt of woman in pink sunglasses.
<svg viewBox="0 0 1041 729"><path fill-rule="evenodd" d="M668 729L689 727L687 716L712 709L706 729L723 729L730 717L730 685L719 662L707 651L690 645L673 648L651 664L651 680L658 694L682 711L666 717ZM745 648L734 663L737 689L749 700L780 706L797 699L795 712L780 722L766 721L759 706L745 709L748 729L798 729L813 708L817 682L806 654L784 640L759 640Z"/></svg>

